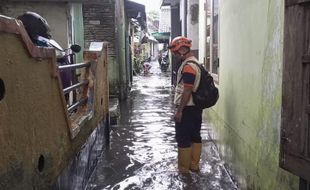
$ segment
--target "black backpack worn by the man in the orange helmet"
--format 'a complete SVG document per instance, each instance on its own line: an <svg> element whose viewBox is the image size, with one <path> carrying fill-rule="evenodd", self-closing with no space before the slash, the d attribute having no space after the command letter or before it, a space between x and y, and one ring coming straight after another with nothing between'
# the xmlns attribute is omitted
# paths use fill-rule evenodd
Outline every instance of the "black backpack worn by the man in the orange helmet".
<svg viewBox="0 0 310 190"><path fill-rule="evenodd" d="M196 92L192 92L195 106L200 109L212 107L219 98L219 91L214 85L213 77L201 64L191 62L196 64L201 71L199 86Z"/></svg>

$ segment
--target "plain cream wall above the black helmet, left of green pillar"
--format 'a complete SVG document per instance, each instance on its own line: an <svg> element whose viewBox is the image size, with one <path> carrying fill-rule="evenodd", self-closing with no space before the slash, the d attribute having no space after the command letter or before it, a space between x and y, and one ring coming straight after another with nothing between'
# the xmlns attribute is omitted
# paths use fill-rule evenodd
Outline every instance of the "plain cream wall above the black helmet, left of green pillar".
<svg viewBox="0 0 310 190"><path fill-rule="evenodd" d="M0 14L14 17L26 11L33 11L43 16L51 28L51 34L63 48L68 47L68 6L66 3L44 3L44 2L0 2ZM57 13L57 14L56 14Z"/></svg>

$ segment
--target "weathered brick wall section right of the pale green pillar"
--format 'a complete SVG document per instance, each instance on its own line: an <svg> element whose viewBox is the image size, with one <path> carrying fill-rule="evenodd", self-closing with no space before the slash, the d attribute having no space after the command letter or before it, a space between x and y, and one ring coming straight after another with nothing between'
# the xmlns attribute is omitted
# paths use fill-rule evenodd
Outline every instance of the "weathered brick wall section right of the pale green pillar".
<svg viewBox="0 0 310 190"><path fill-rule="evenodd" d="M109 56L115 57L114 3L85 3L83 5L85 47L92 41L109 42Z"/></svg>

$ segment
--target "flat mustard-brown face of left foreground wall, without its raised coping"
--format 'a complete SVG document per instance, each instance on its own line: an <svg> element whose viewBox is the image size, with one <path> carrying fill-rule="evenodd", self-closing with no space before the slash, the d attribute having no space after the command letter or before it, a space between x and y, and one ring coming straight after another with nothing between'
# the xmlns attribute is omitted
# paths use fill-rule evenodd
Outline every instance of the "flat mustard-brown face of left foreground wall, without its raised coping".
<svg viewBox="0 0 310 190"><path fill-rule="evenodd" d="M54 52L33 58L20 36L0 34L0 189L49 189L72 154Z"/></svg>

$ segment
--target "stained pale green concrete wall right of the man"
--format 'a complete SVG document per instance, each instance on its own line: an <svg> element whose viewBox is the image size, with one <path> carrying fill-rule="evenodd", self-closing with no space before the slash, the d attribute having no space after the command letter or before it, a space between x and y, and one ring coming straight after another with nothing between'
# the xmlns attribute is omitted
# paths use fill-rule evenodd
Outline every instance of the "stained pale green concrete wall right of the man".
<svg viewBox="0 0 310 190"><path fill-rule="evenodd" d="M242 189L298 189L280 169L284 1L220 2L220 99L206 112Z"/></svg>

